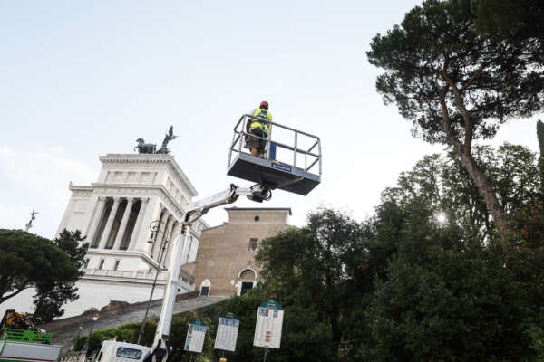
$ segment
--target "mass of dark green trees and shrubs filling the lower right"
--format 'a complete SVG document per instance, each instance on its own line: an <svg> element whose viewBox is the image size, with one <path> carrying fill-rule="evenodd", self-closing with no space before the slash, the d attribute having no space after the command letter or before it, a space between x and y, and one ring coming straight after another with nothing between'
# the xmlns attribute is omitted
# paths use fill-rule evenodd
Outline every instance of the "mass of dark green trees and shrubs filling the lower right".
<svg viewBox="0 0 544 362"><path fill-rule="evenodd" d="M199 311L210 317L199 360L221 356L213 338L218 314L227 311L240 320L228 360L261 360L253 338L264 300L285 310L281 348L268 356L275 362L542 360L544 213L535 155L505 144L474 148L474 159L512 214L511 233L497 236L458 153L424 157L384 190L364 222L320 208L305 226L263 241L257 262L264 282ZM518 233L526 225L529 233ZM173 345L182 348L191 318L174 319ZM175 353L174 361L188 358Z"/></svg>

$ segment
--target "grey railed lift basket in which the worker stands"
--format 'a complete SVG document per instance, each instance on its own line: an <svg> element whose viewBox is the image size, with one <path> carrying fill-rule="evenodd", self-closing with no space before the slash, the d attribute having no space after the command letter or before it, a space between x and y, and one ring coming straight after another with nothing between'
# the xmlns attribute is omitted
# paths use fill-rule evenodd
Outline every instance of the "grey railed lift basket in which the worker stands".
<svg viewBox="0 0 544 362"><path fill-rule="evenodd" d="M248 119L270 125L267 138L246 132ZM246 146L248 137L266 142L265 157L254 157ZM307 195L321 182L321 141L309 133L279 123L243 115L234 128L228 152L228 176L243 178L270 189Z"/></svg>

